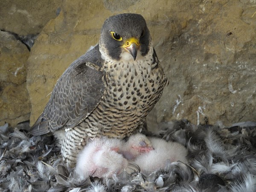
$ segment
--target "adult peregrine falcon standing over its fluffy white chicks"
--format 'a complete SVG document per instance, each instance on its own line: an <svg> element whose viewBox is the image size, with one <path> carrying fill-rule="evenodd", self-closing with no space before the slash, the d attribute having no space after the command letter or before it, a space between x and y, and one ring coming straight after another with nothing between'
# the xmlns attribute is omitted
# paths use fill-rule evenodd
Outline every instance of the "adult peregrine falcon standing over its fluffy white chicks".
<svg viewBox="0 0 256 192"><path fill-rule="evenodd" d="M88 138L137 132L168 82L143 16L111 16L99 44L57 81L31 134L53 132L61 139L64 161L73 166Z"/></svg>

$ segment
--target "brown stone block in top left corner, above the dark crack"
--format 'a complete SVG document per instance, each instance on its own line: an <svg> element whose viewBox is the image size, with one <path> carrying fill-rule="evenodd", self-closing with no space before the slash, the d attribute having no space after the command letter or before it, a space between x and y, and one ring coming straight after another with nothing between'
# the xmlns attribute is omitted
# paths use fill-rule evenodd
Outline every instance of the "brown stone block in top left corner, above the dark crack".
<svg viewBox="0 0 256 192"><path fill-rule="evenodd" d="M57 16L61 0L1 0L0 29L19 35L38 34Z"/></svg>

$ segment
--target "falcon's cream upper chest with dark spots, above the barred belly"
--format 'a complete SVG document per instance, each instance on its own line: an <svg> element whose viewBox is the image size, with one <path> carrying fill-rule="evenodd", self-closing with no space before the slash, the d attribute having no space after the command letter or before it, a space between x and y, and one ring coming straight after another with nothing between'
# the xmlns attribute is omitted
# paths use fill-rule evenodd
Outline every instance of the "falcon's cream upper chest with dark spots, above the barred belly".
<svg viewBox="0 0 256 192"><path fill-rule="evenodd" d="M125 113L144 113L158 89L149 61L111 64L105 79L108 102Z"/></svg>

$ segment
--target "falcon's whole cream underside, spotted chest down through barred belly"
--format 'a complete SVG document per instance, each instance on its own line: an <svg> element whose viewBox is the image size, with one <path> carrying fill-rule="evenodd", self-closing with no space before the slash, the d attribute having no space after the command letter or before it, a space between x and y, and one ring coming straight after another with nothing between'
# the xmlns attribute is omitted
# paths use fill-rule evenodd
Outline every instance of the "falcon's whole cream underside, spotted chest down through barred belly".
<svg viewBox="0 0 256 192"><path fill-rule="evenodd" d="M95 114L101 135L126 137L143 125L163 91L160 68L151 68L152 61L112 63L105 69L105 93Z"/></svg>

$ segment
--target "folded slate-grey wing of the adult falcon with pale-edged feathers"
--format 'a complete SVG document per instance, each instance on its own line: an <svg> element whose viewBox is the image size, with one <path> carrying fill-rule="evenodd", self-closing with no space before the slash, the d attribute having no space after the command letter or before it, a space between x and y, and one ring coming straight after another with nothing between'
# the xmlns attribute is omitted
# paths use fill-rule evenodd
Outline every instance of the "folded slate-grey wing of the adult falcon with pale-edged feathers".
<svg viewBox="0 0 256 192"><path fill-rule="evenodd" d="M105 89L103 73L86 63L101 67L99 45L74 61L57 81L44 112L31 128L32 135L73 128L96 107Z"/></svg>

